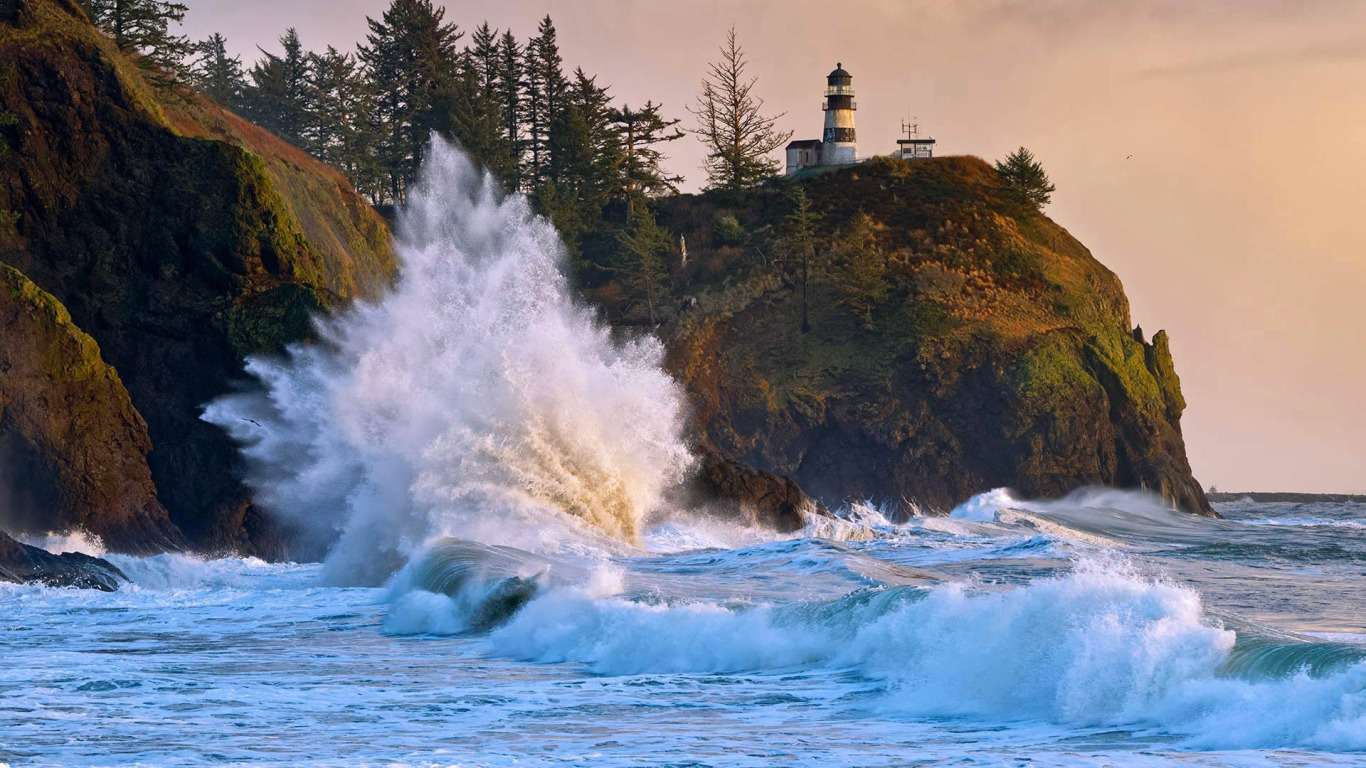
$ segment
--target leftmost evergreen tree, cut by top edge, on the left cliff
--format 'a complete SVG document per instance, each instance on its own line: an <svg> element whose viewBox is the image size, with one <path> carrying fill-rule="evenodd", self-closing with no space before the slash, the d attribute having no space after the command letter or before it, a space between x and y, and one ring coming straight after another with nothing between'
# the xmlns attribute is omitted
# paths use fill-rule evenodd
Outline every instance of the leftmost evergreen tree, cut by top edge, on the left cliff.
<svg viewBox="0 0 1366 768"><path fill-rule="evenodd" d="M189 10L168 0L82 0L90 20L113 38L124 53L137 53L148 79L169 86L186 75L191 53L184 36L172 34L171 25L180 25Z"/></svg>

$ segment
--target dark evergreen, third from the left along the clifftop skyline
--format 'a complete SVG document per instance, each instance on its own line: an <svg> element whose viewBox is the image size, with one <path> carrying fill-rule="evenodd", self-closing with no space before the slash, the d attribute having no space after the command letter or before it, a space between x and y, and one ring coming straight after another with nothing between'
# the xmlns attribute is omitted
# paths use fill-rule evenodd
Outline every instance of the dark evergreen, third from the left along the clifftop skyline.
<svg viewBox="0 0 1366 768"><path fill-rule="evenodd" d="M243 98L247 113L258 126L284 141L307 148L311 59L290 27L280 38L283 56L260 49L264 59L251 67L251 83Z"/></svg>

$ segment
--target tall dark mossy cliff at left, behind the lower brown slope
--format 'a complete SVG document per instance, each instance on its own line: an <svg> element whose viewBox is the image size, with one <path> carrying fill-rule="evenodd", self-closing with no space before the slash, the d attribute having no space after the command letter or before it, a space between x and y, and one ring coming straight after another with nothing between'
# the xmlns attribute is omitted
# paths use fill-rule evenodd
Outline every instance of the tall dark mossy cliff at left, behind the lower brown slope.
<svg viewBox="0 0 1366 768"><path fill-rule="evenodd" d="M146 418L152 476L199 548L281 537L199 421L245 355L374 295L388 231L333 171L193 94L165 105L70 0L0 3L0 261L100 344ZM171 107L173 105L173 108Z"/></svg>

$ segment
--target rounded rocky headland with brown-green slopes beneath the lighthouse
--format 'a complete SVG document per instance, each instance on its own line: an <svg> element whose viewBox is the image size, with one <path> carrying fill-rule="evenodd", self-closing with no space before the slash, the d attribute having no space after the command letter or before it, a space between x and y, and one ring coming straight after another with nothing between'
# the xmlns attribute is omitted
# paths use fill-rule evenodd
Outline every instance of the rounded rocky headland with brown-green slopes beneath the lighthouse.
<svg viewBox="0 0 1366 768"><path fill-rule="evenodd" d="M779 264L792 183L824 236L873 219L887 288L872 328L822 253L802 332L800 286ZM947 511L993 486L1112 485L1212 514L1186 459L1167 335L1132 328L1119 279L1005 200L981 160L877 160L658 208L690 251L660 332L701 441L724 458L825 504ZM589 292L619 323L641 321L619 286Z"/></svg>

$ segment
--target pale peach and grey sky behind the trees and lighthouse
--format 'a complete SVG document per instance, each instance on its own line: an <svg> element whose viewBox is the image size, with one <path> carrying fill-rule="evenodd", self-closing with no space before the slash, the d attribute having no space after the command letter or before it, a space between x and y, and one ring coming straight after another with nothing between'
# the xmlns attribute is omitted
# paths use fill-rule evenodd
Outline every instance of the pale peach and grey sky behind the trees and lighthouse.
<svg viewBox="0 0 1366 768"><path fill-rule="evenodd" d="M186 31L255 55L295 26L351 49L388 0L187 0ZM918 116L941 154L1029 146L1048 215L1172 335L1195 477L1366 492L1366 0L501 0L445 3L534 33L617 100L688 118L735 25L757 94L821 134L825 75L858 93L861 154ZM702 180L693 138L672 169ZM1127 159L1132 156L1131 159Z"/></svg>

